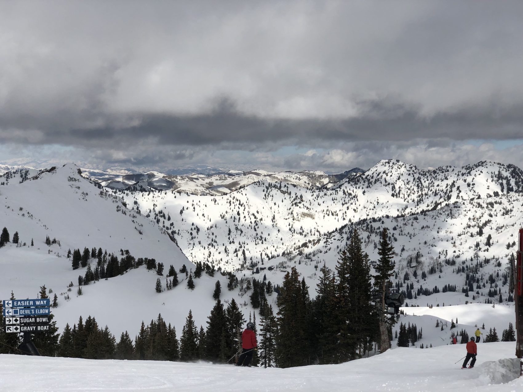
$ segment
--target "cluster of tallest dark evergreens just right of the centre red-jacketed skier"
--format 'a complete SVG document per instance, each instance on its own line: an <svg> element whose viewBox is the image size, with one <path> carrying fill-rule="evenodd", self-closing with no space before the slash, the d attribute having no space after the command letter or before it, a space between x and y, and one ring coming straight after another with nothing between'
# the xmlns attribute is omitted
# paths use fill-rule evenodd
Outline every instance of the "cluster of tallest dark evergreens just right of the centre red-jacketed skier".
<svg viewBox="0 0 523 392"><path fill-rule="evenodd" d="M381 345L382 352L389 348L395 320L384 316L384 292L393 274L393 248L386 229L378 253L374 286L369 257L361 249L357 230L336 271L321 269L314 299L295 268L286 273L278 295L277 366L342 363L360 358L374 342Z"/></svg>

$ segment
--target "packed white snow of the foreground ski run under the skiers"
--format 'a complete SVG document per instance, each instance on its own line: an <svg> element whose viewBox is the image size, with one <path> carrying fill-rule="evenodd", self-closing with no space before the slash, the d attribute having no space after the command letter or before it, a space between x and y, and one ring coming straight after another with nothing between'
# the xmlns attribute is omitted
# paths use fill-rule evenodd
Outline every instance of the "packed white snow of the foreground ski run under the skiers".
<svg viewBox="0 0 523 392"><path fill-rule="evenodd" d="M463 344L402 348L340 365L238 368L209 363L82 360L0 355L0 390L76 391L485 391L521 390L514 342L484 343L461 370ZM458 363L454 363L458 361Z"/></svg>

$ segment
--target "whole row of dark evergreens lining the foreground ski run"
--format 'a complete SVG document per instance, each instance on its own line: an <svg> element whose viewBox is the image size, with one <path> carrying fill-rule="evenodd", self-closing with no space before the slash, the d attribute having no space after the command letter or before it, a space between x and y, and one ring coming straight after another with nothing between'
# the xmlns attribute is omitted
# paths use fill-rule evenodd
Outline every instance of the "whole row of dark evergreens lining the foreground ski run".
<svg viewBox="0 0 523 392"><path fill-rule="evenodd" d="M100 252L97 251L97 257ZM122 252L123 258L130 256ZM89 256L92 257L93 253L91 251ZM373 348L374 342L378 342L382 352L388 349L395 319L385 316L384 294L391 287L389 279L394 267L393 247L386 229L383 230L378 253L380 259L376 262L377 275L373 285L369 257L363 253L359 233L354 230L338 260L336 271L327 269L325 265L321 269L317 295L312 299L304 278L300 280L297 269L293 267L286 273L282 286L274 288L279 292L277 315L267 301L267 295L271 295L273 290L272 285L266 280L255 280L251 302L259 307L260 320L257 324L253 314L252 317L249 315L249 321L256 326L259 351L254 354L252 363L278 367L342 363L360 358ZM103 265L104 253L101 260L100 266ZM109 260L107 255L107 262ZM131 262L133 265L136 264ZM201 276L203 271L213 273L212 270L208 264L198 263L195 278ZM169 273L173 271L174 268L169 269ZM180 273L187 276L185 266ZM192 278L192 273L188 278ZM237 279L230 276L229 284L234 287ZM221 287L217 284L214 292L216 302L208 317L207 327L197 329L189 311L179 340L175 327L167 325L161 315L151 320L149 325L142 322L134 342L127 331L117 342L107 327L101 328L95 318L89 316L85 322L80 318L72 328L66 325L60 337L55 327L50 333L42 333L41 341L35 344L38 349L43 348L43 355L49 356L234 362L233 358L241 349L241 333L246 320L234 299L224 306L219 298L220 292ZM41 295L42 298L47 296L45 292ZM6 339L6 335L0 335L0 339ZM418 337L417 330L414 335ZM8 344L9 350L12 350L9 352L16 353L17 344L11 343Z"/></svg>

